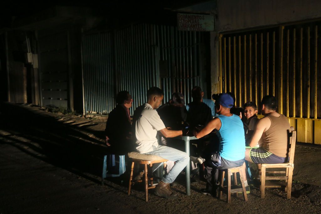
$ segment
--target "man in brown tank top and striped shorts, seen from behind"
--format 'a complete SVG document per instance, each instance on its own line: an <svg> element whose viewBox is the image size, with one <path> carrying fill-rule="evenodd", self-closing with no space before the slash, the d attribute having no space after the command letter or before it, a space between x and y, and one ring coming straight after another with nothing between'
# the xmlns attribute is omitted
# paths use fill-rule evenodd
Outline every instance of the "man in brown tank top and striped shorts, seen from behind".
<svg viewBox="0 0 321 214"><path fill-rule="evenodd" d="M246 149L245 159L252 163L278 164L284 163L287 154L288 119L276 112L277 99L271 95L262 98L261 113L265 116L256 124L253 137L249 143L254 147L261 139L260 148ZM260 142L261 143L261 142Z"/></svg>

